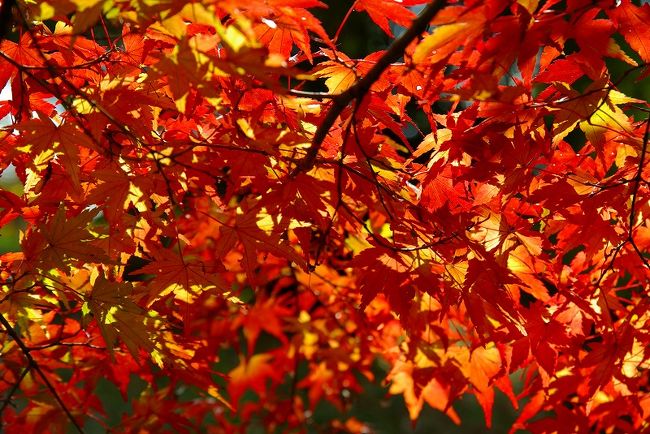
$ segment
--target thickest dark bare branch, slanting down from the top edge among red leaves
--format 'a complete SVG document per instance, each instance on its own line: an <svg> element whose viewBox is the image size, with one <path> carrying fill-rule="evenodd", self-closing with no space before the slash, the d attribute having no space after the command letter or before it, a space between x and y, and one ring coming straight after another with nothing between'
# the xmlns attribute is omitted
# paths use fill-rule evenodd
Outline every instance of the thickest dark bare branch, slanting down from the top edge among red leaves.
<svg viewBox="0 0 650 434"><path fill-rule="evenodd" d="M406 32L397 38L391 45L388 47L386 52L377 60L377 63L368 71L368 73L357 80L351 87L349 87L344 92L338 95L332 95L333 105L325 115L325 119L318 126L316 132L314 133L314 138L312 139L311 146L307 150L307 155L305 158L298 163L296 169L292 172L292 176L297 175L299 172L307 172L314 167L316 163L316 157L318 156L318 151L325 141L325 137L329 133L330 129L336 122L336 119L341 115L343 110L350 104L353 100L358 99L359 101L363 100L363 97L368 93L370 87L379 79L381 74L388 68L392 63L404 55L406 47L424 32L431 22L431 20L436 16L436 14L445 6L447 2L445 0L434 0L429 5L424 8L424 10L418 15L418 17L413 20L411 27L409 27Z"/></svg>

